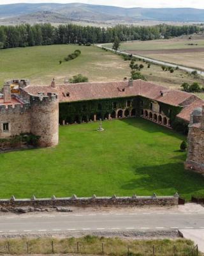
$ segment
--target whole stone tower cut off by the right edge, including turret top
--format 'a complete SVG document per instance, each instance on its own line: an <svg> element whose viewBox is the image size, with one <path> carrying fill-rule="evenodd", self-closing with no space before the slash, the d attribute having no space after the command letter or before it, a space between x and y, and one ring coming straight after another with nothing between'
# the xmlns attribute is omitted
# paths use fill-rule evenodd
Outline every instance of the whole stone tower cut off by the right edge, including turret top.
<svg viewBox="0 0 204 256"><path fill-rule="evenodd" d="M204 106L191 113L185 168L204 173Z"/></svg>

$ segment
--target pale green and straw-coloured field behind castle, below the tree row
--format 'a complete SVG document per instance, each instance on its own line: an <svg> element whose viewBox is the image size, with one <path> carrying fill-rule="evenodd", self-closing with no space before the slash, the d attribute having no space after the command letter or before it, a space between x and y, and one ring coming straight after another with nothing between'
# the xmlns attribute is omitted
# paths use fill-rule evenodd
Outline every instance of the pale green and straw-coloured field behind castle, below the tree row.
<svg viewBox="0 0 204 256"><path fill-rule="evenodd" d="M80 49L75 60L63 62L68 54ZM129 63L98 47L78 45L48 45L0 51L0 84L12 78L31 79L32 84L49 84L52 77L57 83L64 78L82 73L89 81L121 81L129 74Z"/></svg>

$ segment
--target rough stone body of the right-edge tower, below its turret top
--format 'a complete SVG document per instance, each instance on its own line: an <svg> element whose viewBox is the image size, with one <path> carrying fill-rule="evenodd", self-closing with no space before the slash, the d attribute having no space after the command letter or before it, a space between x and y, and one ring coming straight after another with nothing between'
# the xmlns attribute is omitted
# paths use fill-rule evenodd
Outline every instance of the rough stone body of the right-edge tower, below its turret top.
<svg viewBox="0 0 204 256"><path fill-rule="evenodd" d="M204 131L200 124L189 125L186 169L204 173Z"/></svg>

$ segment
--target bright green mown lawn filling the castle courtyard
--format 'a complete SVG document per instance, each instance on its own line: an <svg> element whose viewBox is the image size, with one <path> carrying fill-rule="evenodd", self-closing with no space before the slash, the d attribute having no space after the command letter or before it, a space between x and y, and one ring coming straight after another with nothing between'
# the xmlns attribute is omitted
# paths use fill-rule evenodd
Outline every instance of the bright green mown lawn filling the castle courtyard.
<svg viewBox="0 0 204 256"><path fill-rule="evenodd" d="M60 143L0 154L0 198L180 195L204 192L201 175L184 170L184 136L140 118L60 127Z"/></svg>

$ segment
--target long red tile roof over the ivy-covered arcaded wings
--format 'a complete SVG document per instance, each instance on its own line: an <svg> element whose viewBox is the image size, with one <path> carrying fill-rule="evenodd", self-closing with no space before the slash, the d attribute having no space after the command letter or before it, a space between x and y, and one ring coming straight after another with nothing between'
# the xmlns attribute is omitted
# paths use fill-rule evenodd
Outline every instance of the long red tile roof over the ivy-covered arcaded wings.
<svg viewBox="0 0 204 256"><path fill-rule="evenodd" d="M37 95L40 92L57 93L59 102L111 99L141 95L143 97L173 106L189 106L194 101L198 102L198 106L202 106L204 104L203 100L200 100L192 93L182 92L180 90L170 90L164 86L142 80L133 81L133 86L129 86L128 81L122 81L107 83L62 84L57 85L57 88L52 88L51 86L27 86L24 88L24 90L25 92L33 95ZM69 97L66 96L67 93L69 93ZM184 120L189 120L191 113L189 111L191 111L192 108L193 105L191 107L189 106L189 110L184 111L183 109L179 114L180 116L178 116Z"/></svg>

